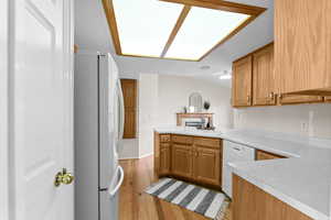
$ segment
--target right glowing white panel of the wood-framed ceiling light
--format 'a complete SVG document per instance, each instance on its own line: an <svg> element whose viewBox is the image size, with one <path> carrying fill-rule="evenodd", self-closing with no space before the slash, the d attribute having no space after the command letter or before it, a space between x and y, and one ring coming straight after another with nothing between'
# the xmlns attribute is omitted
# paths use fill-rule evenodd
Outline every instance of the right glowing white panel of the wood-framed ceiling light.
<svg viewBox="0 0 331 220"><path fill-rule="evenodd" d="M167 58L200 59L250 15L193 7Z"/></svg>

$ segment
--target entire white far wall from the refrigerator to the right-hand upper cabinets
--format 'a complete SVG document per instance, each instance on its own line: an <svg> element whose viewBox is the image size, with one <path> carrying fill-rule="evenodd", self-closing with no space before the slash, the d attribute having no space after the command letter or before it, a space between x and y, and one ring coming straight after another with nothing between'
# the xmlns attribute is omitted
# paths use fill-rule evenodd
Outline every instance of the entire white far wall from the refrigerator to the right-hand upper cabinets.
<svg viewBox="0 0 331 220"><path fill-rule="evenodd" d="M125 78L134 78L121 75ZM135 77L138 78L138 77ZM211 102L210 112L215 113L217 129L233 127L233 109L229 105L231 89L218 84L192 77L140 74L138 78L138 140L125 140L120 158L138 158L153 153L153 129L175 127L177 112L189 105L189 96L200 92Z"/></svg>

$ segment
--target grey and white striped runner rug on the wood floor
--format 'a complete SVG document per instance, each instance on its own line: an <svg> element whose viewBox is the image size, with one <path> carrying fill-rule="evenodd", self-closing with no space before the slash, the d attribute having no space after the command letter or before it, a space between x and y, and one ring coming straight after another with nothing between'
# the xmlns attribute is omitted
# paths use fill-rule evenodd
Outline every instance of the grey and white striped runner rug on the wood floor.
<svg viewBox="0 0 331 220"><path fill-rule="evenodd" d="M223 219L228 206L224 194L173 178L160 179L149 186L146 193L215 220Z"/></svg>

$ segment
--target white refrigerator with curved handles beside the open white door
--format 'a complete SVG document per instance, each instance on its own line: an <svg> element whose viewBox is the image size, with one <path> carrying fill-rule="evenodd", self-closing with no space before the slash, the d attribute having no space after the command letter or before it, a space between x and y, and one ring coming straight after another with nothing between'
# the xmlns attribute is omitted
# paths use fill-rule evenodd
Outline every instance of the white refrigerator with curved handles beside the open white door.
<svg viewBox="0 0 331 220"><path fill-rule="evenodd" d="M117 220L124 99L110 54L75 55L75 219Z"/></svg>

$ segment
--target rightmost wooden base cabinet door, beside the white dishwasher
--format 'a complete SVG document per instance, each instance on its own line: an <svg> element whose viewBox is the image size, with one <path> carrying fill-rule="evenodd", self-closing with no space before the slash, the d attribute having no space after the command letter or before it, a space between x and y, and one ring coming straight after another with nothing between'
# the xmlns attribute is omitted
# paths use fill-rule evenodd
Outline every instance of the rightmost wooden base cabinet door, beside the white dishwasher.
<svg viewBox="0 0 331 220"><path fill-rule="evenodd" d="M195 180L221 186L221 151L197 146L193 155Z"/></svg>

